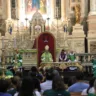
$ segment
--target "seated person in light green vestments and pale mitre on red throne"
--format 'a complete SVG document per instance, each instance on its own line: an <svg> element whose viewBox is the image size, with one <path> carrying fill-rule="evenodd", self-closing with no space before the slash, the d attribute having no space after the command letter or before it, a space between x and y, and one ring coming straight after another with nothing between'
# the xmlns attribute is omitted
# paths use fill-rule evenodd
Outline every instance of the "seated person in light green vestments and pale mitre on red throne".
<svg viewBox="0 0 96 96"><path fill-rule="evenodd" d="M42 62L53 62L52 54L49 52L49 46L45 46L45 52L41 55Z"/></svg>

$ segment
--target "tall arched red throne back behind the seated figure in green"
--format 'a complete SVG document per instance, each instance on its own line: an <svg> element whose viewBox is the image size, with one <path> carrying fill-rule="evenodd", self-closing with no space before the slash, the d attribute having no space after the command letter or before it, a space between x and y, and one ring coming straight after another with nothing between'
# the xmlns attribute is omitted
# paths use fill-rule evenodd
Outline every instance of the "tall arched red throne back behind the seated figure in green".
<svg viewBox="0 0 96 96"><path fill-rule="evenodd" d="M41 55L44 52L46 45L49 46L49 51L52 54L53 62L56 61L55 37L49 32L43 32L37 38L38 65L40 65L40 63L41 63Z"/></svg>

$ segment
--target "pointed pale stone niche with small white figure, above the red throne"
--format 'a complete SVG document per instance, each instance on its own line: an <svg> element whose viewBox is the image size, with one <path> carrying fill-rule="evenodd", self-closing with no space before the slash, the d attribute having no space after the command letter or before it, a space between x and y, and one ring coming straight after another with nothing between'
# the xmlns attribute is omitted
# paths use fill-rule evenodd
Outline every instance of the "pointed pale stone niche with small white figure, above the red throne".
<svg viewBox="0 0 96 96"><path fill-rule="evenodd" d="M34 13L30 23L32 29L31 38L37 37L41 32L44 32L45 21L38 11Z"/></svg>

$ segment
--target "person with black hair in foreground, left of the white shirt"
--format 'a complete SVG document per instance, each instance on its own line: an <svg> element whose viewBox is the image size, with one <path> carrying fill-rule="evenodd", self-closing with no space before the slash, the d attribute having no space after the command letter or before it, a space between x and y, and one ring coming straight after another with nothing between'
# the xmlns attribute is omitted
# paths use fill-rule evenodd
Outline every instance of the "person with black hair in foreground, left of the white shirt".
<svg viewBox="0 0 96 96"><path fill-rule="evenodd" d="M39 83L37 80L31 77L25 77L22 81L20 92L14 96L41 96L39 93L40 88L38 87L40 85L36 85L37 82Z"/></svg>

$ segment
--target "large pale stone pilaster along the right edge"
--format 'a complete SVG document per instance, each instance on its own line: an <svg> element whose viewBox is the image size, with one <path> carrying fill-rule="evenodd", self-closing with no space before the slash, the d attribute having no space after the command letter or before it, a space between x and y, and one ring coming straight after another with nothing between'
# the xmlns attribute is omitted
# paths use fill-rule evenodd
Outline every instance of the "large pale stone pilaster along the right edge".
<svg viewBox="0 0 96 96"><path fill-rule="evenodd" d="M90 0L88 28L88 52L96 53L96 0Z"/></svg>

